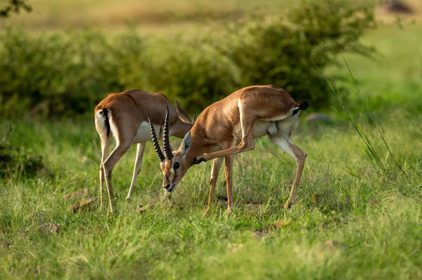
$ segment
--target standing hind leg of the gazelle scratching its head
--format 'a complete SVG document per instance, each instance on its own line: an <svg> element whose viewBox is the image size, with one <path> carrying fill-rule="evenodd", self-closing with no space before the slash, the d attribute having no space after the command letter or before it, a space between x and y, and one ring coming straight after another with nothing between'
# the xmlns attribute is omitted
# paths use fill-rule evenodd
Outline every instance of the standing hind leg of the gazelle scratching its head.
<svg viewBox="0 0 422 280"><path fill-rule="evenodd" d="M284 204L284 208L288 208L294 201L296 192L298 191L298 186L300 182L300 177L302 176L303 167L305 166L305 160L307 154L300 149L300 147L296 146L292 140L290 139L290 135L274 135L269 136L271 142L276 144L277 146L281 147L281 149L285 150L290 156L296 161L296 173L295 173L295 180L293 181L293 187L290 190L290 195Z"/></svg>

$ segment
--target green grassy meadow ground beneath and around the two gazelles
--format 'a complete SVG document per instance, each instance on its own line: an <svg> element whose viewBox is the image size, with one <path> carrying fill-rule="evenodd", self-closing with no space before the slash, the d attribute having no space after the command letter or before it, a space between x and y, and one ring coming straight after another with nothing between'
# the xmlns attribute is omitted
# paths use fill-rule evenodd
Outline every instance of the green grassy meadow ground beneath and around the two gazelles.
<svg viewBox="0 0 422 280"><path fill-rule="evenodd" d="M341 110L327 112L333 124L318 127L304 112L293 141L307 164L288 210L295 163L262 138L235 157L229 216L224 173L204 219L211 163L194 166L168 196L151 143L131 204L124 198L134 147L113 171L117 213L98 204L74 213L77 199L65 194L98 192L93 119L11 120L8 145L43 155L45 168L33 178L17 170L0 180L0 279L421 279L421 34L418 26L379 29L364 38L379 51L375 60L345 55L364 95L346 79L345 105L388 172L373 165ZM328 71L348 74L344 66ZM367 124L366 98L407 176Z"/></svg>

